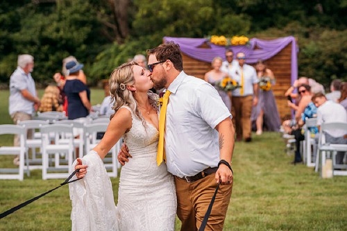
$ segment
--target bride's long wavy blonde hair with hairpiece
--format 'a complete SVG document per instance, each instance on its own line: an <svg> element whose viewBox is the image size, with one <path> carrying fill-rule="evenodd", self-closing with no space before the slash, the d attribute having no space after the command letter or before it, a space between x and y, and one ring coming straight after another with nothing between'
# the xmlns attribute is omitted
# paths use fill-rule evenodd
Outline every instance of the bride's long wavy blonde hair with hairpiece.
<svg viewBox="0 0 347 231"><path fill-rule="evenodd" d="M110 85L110 94L111 94L111 104L112 109L117 112L121 106L128 106L130 110L135 114L142 123L144 119L141 112L137 108L137 102L131 92L126 86L135 84L135 77L133 73L133 67L137 65L137 62L126 62L123 65L117 67L110 76L109 85ZM149 103L153 108L158 109L156 101L158 96L153 93L149 93ZM112 119L115 114L112 114L110 119Z"/></svg>

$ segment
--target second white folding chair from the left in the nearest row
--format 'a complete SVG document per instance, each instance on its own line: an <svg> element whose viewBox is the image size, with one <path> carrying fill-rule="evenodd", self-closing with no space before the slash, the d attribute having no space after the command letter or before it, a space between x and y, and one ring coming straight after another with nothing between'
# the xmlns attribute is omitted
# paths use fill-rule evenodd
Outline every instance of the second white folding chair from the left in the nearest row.
<svg viewBox="0 0 347 231"><path fill-rule="evenodd" d="M49 124L41 127L43 180L67 178L69 176L69 168L72 165L74 152L72 128L71 124ZM53 142L50 139L52 134L54 135ZM50 159L49 155L54 155L54 158ZM64 155L67 157L67 164L65 159L60 160L60 157Z"/></svg>

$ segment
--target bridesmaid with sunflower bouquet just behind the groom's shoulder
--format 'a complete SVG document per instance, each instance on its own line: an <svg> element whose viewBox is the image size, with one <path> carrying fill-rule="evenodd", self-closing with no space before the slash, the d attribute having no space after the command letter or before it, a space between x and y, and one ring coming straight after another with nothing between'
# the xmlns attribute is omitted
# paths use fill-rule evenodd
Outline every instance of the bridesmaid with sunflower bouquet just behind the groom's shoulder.
<svg viewBox="0 0 347 231"><path fill-rule="evenodd" d="M228 110L231 112L231 92L224 92L223 89L218 87L218 85L221 83L221 80L228 77L228 74L220 70L222 62L223 60L221 57L215 57L211 63L212 70L208 71L208 73L205 74L204 79L206 82L210 83L212 86L214 86L214 88L217 89L219 96L221 96L221 99L226 104Z"/></svg>

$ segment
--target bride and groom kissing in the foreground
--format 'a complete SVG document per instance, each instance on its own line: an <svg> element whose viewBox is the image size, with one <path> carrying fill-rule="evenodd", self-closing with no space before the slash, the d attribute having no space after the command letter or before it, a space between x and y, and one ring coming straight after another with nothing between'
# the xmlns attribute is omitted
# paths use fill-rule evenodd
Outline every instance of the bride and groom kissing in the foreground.
<svg viewBox="0 0 347 231"><path fill-rule="evenodd" d="M75 161L83 178L70 184L72 230L198 230L218 182L205 230L223 230L230 203L235 130L218 92L183 71L174 42L147 51L149 70L135 62L115 69L115 114L98 146ZM152 87L165 88L158 108ZM160 116L158 117L158 113ZM118 204L103 158L123 137Z"/></svg>

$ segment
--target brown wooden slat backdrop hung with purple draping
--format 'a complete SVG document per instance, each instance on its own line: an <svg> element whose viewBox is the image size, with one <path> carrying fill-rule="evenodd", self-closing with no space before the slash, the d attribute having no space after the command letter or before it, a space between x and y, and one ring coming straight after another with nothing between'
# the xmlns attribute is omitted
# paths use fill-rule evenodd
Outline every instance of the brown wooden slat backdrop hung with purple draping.
<svg viewBox="0 0 347 231"><path fill-rule="evenodd" d="M209 62L203 62L191 58L185 53L183 55L183 69L185 73L203 78L205 73L212 69ZM266 66L273 71L276 77L276 85L273 85L273 94L276 98L277 108L280 112L280 118L287 119L290 117L291 110L287 106L285 92L291 86L291 44L282 49L277 55L266 60Z"/></svg>

